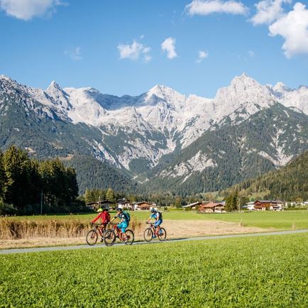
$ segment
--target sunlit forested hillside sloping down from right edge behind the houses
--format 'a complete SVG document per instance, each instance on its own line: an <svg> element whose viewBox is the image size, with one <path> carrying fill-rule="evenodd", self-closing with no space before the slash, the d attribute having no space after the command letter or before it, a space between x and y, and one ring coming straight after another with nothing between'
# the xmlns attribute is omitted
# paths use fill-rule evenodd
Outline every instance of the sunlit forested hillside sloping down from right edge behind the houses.
<svg viewBox="0 0 308 308"><path fill-rule="evenodd" d="M308 199L308 151L299 155L280 170L270 171L246 180L227 189L238 190L247 196L262 194L265 199L282 199L294 201L296 199Z"/></svg>

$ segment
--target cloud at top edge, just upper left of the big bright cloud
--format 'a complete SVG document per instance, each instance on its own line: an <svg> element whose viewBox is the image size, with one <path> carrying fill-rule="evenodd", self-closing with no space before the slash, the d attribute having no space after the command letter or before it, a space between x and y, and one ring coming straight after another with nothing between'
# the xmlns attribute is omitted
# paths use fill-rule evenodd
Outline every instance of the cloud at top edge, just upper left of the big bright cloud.
<svg viewBox="0 0 308 308"><path fill-rule="evenodd" d="M251 18L254 26L263 23L273 23L284 15L282 4L290 4L292 0L263 0L255 4L257 13Z"/></svg>

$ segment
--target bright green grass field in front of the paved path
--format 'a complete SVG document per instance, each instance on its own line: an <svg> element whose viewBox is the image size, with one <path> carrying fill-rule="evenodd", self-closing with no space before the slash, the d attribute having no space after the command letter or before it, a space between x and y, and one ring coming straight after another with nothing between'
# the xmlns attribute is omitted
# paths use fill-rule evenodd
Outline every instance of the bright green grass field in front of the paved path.
<svg viewBox="0 0 308 308"><path fill-rule="evenodd" d="M0 255L0 307L308 307L308 233Z"/></svg>

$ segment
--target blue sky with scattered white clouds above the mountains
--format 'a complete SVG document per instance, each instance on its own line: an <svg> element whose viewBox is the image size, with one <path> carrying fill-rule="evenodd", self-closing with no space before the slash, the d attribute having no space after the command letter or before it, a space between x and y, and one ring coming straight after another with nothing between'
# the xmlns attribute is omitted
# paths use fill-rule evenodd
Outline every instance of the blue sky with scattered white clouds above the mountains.
<svg viewBox="0 0 308 308"><path fill-rule="evenodd" d="M119 96L163 84L211 98L243 72L297 88L308 85L307 2L0 0L0 75Z"/></svg>

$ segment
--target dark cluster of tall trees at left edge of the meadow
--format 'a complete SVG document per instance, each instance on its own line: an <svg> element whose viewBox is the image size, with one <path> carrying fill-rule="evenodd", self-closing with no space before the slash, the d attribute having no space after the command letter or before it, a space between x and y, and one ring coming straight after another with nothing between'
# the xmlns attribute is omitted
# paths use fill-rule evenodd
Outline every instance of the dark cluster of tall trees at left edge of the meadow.
<svg viewBox="0 0 308 308"><path fill-rule="evenodd" d="M76 172L58 159L35 160L21 148L0 151L0 214L80 211Z"/></svg>

